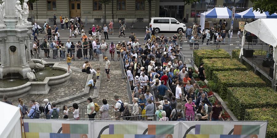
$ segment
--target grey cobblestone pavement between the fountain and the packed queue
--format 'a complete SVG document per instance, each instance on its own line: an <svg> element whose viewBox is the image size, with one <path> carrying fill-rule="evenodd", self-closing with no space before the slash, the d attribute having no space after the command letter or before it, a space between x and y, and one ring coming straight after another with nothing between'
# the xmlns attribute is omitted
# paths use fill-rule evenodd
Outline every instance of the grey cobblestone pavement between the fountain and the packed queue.
<svg viewBox="0 0 277 138"><path fill-rule="evenodd" d="M72 61L71 67L79 68L81 71L82 65L84 61ZM100 90L98 98L94 99L94 102L97 102L99 105L102 105L102 99L107 99L109 104L115 104L115 101L113 99L114 94L118 94L120 99L123 99L124 102L129 102L128 94L126 93L126 82L125 80L122 80L122 74L120 70L120 63L117 61L111 61L111 82L106 82L105 79L106 73L104 70L104 62L101 67L99 66L99 61L90 61L92 68L96 70L96 68L101 69L102 79L100 84ZM61 66L66 66L65 61L61 61ZM65 98L68 96L71 96L73 94L81 93L84 91L86 80L88 75L86 73L72 70L72 75L69 80L69 82L66 85L54 87L51 88L48 94L28 94L22 99L24 100L24 103L28 105L27 103L31 99L35 99L40 104L43 104L43 99L48 98L50 102ZM98 88L99 89L99 88ZM9 99L13 102L14 105L18 104L17 99ZM74 102L75 100L71 100L71 102ZM83 105L86 105L86 103L83 103Z"/></svg>

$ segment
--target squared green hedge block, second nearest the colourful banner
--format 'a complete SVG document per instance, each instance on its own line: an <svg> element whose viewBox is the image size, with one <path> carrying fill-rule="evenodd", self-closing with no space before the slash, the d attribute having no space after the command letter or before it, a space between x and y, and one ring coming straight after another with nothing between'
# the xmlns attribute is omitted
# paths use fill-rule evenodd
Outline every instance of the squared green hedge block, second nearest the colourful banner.
<svg viewBox="0 0 277 138"><path fill-rule="evenodd" d="M277 93L270 87L232 87L227 91L229 108L239 120L244 120L246 109L277 107Z"/></svg>

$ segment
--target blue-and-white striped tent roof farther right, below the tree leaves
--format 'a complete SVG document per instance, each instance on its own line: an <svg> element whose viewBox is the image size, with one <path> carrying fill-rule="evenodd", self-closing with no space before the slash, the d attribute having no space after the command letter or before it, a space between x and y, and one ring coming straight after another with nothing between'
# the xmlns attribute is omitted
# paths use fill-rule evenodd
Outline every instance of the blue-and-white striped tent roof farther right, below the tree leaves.
<svg viewBox="0 0 277 138"><path fill-rule="evenodd" d="M269 15L268 12L260 13L259 11L253 11L253 8L249 8L238 14L241 16L241 18L277 18L276 13Z"/></svg>

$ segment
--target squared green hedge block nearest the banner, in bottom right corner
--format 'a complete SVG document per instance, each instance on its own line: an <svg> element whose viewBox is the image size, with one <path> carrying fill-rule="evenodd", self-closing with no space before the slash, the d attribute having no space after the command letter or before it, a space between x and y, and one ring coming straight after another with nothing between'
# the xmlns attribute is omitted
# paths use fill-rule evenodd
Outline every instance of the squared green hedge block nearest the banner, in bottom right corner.
<svg viewBox="0 0 277 138"><path fill-rule="evenodd" d="M277 109L276 108L255 108L246 109L245 120L266 120L267 124L267 138L277 137Z"/></svg>

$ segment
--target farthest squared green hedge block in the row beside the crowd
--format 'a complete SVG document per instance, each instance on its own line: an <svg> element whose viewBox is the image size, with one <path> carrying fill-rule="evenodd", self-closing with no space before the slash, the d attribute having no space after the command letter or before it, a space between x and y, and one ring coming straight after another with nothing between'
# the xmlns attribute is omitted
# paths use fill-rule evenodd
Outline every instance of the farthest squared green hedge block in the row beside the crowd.
<svg viewBox="0 0 277 138"><path fill-rule="evenodd" d="M193 56L194 56L194 62L196 66L198 67L200 63L202 63L203 59L218 59L218 58L223 58L223 59L230 59L231 56L228 52L226 52L223 49L218 49L218 50L195 50L193 51Z"/></svg>

